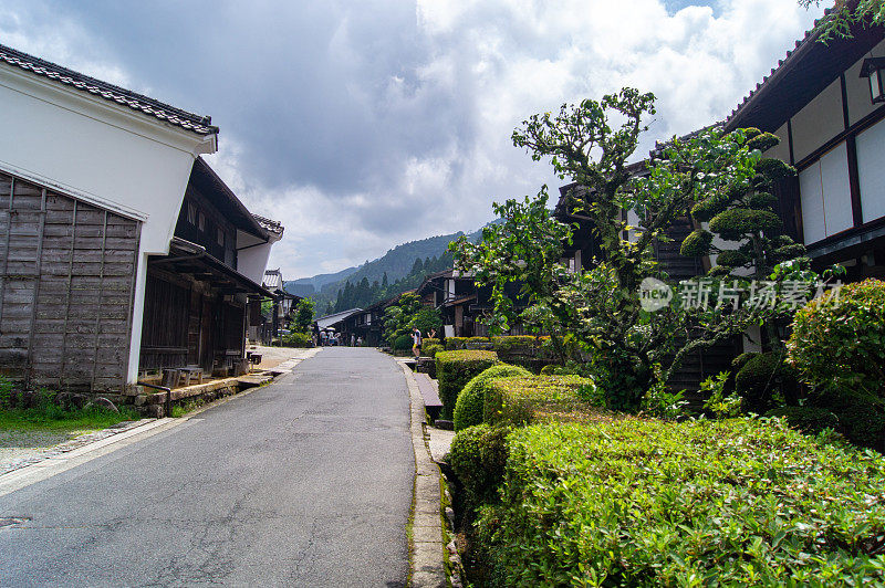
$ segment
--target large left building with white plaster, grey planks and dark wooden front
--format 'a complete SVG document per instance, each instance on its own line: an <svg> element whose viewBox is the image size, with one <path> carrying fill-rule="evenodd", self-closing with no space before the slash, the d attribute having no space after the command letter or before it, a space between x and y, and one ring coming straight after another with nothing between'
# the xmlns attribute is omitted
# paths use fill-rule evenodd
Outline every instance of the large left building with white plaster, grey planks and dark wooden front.
<svg viewBox="0 0 885 588"><path fill-rule="evenodd" d="M3 45L0 105L0 374L107 393L232 367L282 230L199 157L211 119Z"/></svg>

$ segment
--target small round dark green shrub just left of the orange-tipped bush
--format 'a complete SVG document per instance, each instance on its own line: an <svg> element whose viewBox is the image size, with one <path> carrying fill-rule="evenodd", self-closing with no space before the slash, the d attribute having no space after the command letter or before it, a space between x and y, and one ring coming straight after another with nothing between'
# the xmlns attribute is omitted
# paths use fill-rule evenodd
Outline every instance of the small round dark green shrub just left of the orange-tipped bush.
<svg viewBox="0 0 885 588"><path fill-rule="evenodd" d="M754 354L735 376L735 389L743 399L743 408L759 414L783 403L783 397L793 393L795 387L795 372L779 353Z"/></svg>

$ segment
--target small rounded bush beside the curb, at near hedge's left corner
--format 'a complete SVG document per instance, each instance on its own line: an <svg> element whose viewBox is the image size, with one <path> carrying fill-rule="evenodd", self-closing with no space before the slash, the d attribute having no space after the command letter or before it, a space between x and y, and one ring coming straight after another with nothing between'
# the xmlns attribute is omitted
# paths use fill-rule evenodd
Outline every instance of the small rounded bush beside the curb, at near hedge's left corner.
<svg viewBox="0 0 885 588"><path fill-rule="evenodd" d="M494 502L504 475L509 427L478 424L459 431L451 442L448 462L470 507Z"/></svg>

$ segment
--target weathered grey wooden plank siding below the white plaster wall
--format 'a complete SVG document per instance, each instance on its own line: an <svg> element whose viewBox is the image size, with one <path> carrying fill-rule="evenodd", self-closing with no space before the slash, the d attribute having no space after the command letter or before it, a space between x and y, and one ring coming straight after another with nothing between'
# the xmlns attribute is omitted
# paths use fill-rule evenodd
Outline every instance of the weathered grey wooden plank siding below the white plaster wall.
<svg viewBox="0 0 885 588"><path fill-rule="evenodd" d="M0 174L0 374L121 390L139 235L138 221Z"/></svg>

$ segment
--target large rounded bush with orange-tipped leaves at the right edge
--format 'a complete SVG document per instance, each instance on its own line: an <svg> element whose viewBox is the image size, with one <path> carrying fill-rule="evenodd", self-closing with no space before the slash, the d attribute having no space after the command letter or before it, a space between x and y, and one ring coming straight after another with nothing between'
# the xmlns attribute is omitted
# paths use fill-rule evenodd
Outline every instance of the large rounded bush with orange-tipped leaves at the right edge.
<svg viewBox="0 0 885 588"><path fill-rule="evenodd" d="M806 384L885 396L885 282L847 284L837 301L810 302L795 314L787 347Z"/></svg>

